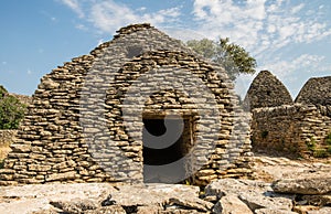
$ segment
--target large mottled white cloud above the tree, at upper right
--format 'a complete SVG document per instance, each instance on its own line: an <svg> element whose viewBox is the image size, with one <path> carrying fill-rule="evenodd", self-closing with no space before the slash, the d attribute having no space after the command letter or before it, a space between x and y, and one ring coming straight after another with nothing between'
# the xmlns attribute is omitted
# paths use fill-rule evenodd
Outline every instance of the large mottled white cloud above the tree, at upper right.
<svg viewBox="0 0 331 214"><path fill-rule="evenodd" d="M302 15L305 3L289 0L194 0L193 14L200 29L210 39L228 36L257 57L267 50L278 50L290 43L311 43L331 35L331 29L316 12Z"/></svg>

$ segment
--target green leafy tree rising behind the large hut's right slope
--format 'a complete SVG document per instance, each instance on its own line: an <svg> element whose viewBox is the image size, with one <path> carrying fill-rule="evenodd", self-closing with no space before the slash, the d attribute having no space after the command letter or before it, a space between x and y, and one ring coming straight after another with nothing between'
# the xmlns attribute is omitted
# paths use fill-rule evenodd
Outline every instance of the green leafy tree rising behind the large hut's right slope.
<svg viewBox="0 0 331 214"><path fill-rule="evenodd" d="M221 64L233 81L239 74L255 73L256 60L244 47L229 43L228 38L220 39L218 42L207 39L191 40L186 45L204 57Z"/></svg>

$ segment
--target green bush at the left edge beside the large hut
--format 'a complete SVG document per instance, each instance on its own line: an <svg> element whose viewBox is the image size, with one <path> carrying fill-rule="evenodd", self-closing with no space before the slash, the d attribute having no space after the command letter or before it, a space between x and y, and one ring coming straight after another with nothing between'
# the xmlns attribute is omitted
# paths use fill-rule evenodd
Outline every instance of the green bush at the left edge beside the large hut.
<svg viewBox="0 0 331 214"><path fill-rule="evenodd" d="M0 129L17 129L24 117L26 106L0 85Z"/></svg>

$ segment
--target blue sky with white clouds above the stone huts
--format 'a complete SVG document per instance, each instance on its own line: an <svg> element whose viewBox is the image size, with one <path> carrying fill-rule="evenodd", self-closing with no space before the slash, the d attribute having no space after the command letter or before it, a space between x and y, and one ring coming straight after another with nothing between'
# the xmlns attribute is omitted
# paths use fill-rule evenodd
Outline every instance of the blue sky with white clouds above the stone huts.
<svg viewBox="0 0 331 214"><path fill-rule="evenodd" d="M293 98L308 78L331 74L330 0L2 0L0 18L0 85L17 94L140 22L181 40L228 36ZM253 77L237 79L239 94Z"/></svg>

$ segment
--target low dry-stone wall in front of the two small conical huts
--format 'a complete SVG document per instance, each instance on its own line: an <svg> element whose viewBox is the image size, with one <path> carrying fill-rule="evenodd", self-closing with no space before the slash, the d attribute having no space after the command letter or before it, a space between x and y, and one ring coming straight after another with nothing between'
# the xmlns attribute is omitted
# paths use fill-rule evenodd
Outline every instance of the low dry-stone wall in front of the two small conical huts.
<svg viewBox="0 0 331 214"><path fill-rule="evenodd" d="M258 150L309 157L311 143L327 149L331 119L313 105L258 108L253 110L252 130L252 143Z"/></svg>

